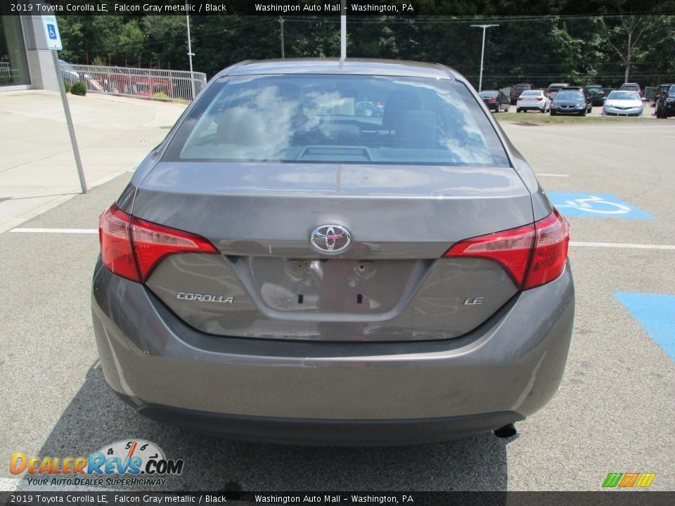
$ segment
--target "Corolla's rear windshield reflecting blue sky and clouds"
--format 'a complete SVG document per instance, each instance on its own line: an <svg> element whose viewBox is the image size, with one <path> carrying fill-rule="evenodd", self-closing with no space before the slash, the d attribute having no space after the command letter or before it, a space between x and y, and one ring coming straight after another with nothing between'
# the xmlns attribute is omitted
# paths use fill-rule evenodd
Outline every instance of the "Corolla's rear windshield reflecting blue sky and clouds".
<svg viewBox="0 0 675 506"><path fill-rule="evenodd" d="M508 167L482 105L460 82L333 74L219 79L165 160Z"/></svg>

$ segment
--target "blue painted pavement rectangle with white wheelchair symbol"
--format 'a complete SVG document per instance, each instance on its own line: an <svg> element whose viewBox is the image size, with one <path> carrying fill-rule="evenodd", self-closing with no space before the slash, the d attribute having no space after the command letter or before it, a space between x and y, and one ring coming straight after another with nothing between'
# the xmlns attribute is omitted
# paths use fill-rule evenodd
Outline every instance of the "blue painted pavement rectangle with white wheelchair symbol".
<svg viewBox="0 0 675 506"><path fill-rule="evenodd" d="M607 193L546 192L551 203L565 216L596 218L655 219L634 205Z"/></svg>

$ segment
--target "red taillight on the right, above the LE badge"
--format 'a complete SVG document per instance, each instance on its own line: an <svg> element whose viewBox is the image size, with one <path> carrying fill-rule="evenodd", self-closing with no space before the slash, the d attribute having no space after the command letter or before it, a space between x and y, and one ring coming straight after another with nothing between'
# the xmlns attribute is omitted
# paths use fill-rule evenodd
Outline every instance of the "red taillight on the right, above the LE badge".
<svg viewBox="0 0 675 506"><path fill-rule="evenodd" d="M534 225L463 240L444 258L473 257L494 260L522 290L550 283L563 273L570 240L569 223L556 209Z"/></svg>

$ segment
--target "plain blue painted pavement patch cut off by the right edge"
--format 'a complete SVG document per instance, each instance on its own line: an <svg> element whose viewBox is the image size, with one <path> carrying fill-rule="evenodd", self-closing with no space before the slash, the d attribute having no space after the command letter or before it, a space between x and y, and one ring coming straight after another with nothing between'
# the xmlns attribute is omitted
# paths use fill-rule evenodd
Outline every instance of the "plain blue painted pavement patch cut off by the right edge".
<svg viewBox="0 0 675 506"><path fill-rule="evenodd" d="M617 292L614 296L675 361L675 295Z"/></svg>

